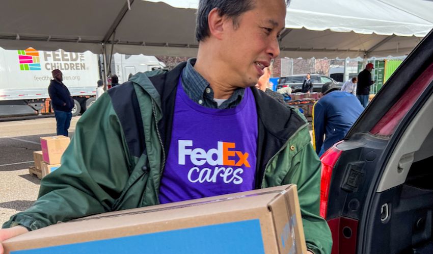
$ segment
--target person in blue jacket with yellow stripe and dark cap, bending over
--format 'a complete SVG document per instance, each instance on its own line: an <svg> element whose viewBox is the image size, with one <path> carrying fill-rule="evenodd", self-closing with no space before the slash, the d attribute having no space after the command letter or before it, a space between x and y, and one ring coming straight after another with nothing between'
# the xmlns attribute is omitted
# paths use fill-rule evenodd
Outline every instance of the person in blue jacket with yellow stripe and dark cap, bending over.
<svg viewBox="0 0 433 254"><path fill-rule="evenodd" d="M342 140L364 110L357 97L338 90L333 82L324 84L323 97L313 106L313 146L318 156Z"/></svg>

